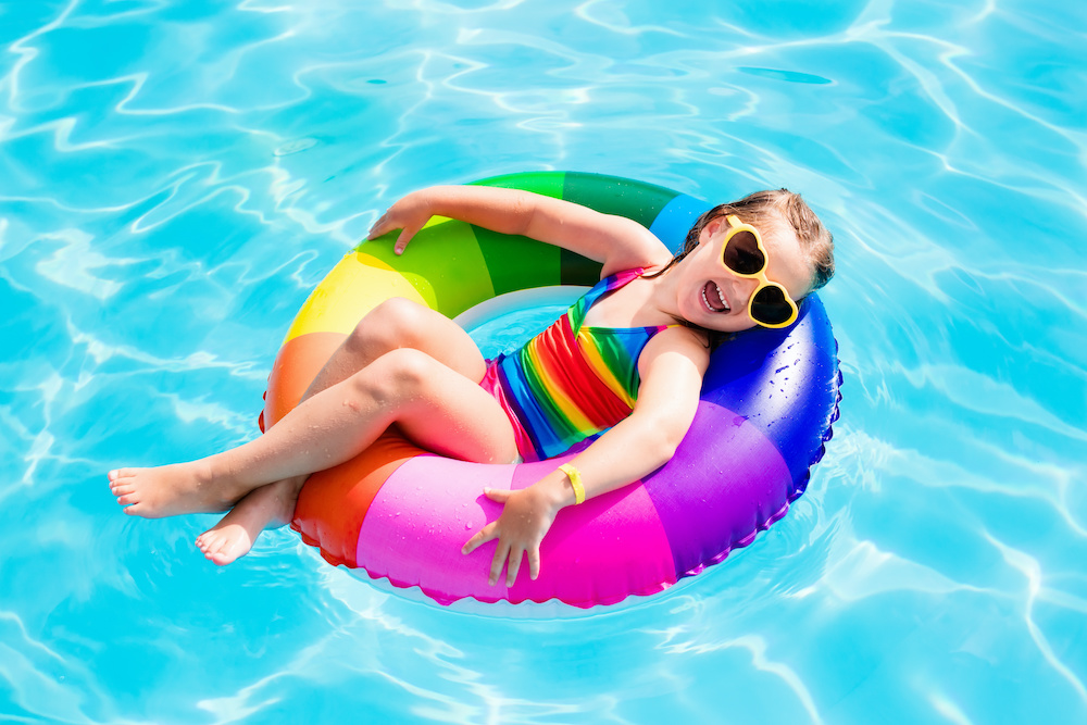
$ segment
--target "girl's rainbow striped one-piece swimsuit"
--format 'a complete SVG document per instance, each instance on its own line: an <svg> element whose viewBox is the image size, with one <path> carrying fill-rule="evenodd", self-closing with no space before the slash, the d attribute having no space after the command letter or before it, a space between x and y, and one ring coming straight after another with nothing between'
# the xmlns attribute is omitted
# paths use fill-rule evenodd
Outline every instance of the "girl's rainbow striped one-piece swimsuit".
<svg viewBox="0 0 1087 725"><path fill-rule="evenodd" d="M598 282L566 314L520 350L488 362L479 383L505 410L526 461L565 452L634 410L638 358L669 325L583 327L592 303L641 275L627 270Z"/></svg>

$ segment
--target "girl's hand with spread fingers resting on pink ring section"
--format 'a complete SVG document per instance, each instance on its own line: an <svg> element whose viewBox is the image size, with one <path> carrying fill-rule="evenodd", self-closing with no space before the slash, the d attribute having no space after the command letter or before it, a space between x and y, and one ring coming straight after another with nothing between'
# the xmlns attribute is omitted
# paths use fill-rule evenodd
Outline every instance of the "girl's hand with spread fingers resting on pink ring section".
<svg viewBox="0 0 1087 725"><path fill-rule="evenodd" d="M498 539L487 583L493 585L498 582L502 565L509 559L505 586L512 587L525 553L528 554L528 576L535 580L540 573L540 541L554 523L562 504L538 484L518 491L485 488L484 493L491 501L504 503L505 508L497 521L484 526L465 542L461 553L472 553L480 545Z"/></svg>

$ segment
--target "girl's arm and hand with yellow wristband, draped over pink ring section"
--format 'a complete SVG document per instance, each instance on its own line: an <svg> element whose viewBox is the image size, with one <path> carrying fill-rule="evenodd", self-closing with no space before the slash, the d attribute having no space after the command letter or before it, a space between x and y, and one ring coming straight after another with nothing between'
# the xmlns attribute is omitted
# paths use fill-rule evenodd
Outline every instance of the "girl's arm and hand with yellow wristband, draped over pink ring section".
<svg viewBox="0 0 1087 725"><path fill-rule="evenodd" d="M709 360L704 340L685 327L664 330L649 341L638 360L641 387L634 412L571 461L582 474L586 499L638 480L672 459L695 420ZM562 471L553 471L528 488L486 489L485 493L505 508L497 521L467 540L462 552L471 553L497 538L490 584L498 582L509 560L505 582L513 586L526 553L528 574L535 579L540 571L540 541L559 511L575 502L570 479Z"/></svg>

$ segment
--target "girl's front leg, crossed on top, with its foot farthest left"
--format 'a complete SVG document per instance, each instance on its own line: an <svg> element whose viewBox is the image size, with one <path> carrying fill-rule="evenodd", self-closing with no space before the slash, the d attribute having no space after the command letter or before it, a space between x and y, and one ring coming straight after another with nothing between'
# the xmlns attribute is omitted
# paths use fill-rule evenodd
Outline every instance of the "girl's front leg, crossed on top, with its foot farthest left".
<svg viewBox="0 0 1087 725"><path fill-rule="evenodd" d="M464 333L454 323L437 320L437 336L428 339L442 351L467 340L482 377L471 340L459 339ZM516 452L509 421L477 382L420 350L392 350L314 395L257 440L193 463L113 472L111 482L134 515L222 510L259 486L352 458L391 423L439 453L508 461Z"/></svg>

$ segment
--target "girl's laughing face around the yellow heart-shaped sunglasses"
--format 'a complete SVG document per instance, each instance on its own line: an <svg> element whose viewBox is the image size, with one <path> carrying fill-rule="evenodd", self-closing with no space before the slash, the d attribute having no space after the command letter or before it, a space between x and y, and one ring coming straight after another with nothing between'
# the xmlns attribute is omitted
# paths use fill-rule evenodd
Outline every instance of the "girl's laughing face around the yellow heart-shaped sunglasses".
<svg viewBox="0 0 1087 725"><path fill-rule="evenodd" d="M676 303L687 322L722 333L738 333L758 325L748 316L748 302L759 280L733 273L721 261L728 228L725 217L707 224L698 247L679 262ZM809 291L812 271L791 225L782 218L759 233L769 260L766 277L785 287L794 300L800 299Z"/></svg>

